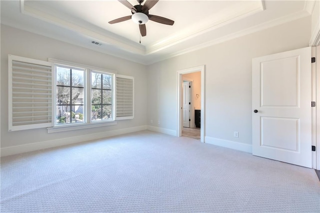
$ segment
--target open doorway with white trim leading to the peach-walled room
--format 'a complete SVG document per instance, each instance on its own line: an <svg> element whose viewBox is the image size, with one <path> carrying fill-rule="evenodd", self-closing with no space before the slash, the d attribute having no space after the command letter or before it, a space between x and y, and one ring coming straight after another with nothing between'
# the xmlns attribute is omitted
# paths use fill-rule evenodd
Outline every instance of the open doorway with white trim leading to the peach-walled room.
<svg viewBox="0 0 320 213"><path fill-rule="evenodd" d="M198 89L195 90L195 83L194 79L192 79L192 73L195 74L195 72L198 72L199 79L198 83ZM190 82L190 104L189 104L189 127L183 127L183 119L185 120L186 117L183 117L183 95L187 95L183 91L183 80ZM198 100L197 103L195 103ZM186 102L185 102L186 103ZM192 130L192 128L195 127L195 109L198 111L201 111L200 121L201 128L199 133L200 135L195 135L195 137L200 138L201 142L204 142L204 129L205 129L205 123L204 123L204 65L202 66L196 66L192 68L182 69L177 71L177 136L182 136L182 129L187 128L186 130ZM186 121L186 120L185 120ZM187 133L187 132L186 132ZM188 133L189 137L192 137L192 132ZM191 135L190 135L191 134ZM199 137L200 136L200 137Z"/></svg>

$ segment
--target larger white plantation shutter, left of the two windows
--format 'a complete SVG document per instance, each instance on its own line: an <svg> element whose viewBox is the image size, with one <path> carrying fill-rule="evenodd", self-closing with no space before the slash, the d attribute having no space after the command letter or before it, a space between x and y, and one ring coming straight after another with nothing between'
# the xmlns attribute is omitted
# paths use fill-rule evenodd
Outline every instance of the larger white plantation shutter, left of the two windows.
<svg viewBox="0 0 320 213"><path fill-rule="evenodd" d="M51 63L8 56L9 131L52 126Z"/></svg>

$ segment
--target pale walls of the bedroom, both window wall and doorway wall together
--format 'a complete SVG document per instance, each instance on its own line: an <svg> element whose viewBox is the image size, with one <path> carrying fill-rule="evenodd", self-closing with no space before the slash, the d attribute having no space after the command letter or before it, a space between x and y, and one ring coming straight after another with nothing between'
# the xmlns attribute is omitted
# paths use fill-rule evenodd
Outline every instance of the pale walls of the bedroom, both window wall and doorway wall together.
<svg viewBox="0 0 320 213"><path fill-rule="evenodd" d="M16 147L27 151L121 133L121 129L138 130L146 124L154 127L150 129L175 132L176 71L203 64L206 142L235 144L235 148L236 144L249 146L251 59L308 46L310 23L310 17L301 18L148 66L1 25L1 154L5 155L3 151L12 151ZM40 60L48 57L63 59L134 76L135 118L118 121L113 126L69 132L47 133L46 128L8 132L8 54ZM233 137L233 131L239 132L238 138Z"/></svg>

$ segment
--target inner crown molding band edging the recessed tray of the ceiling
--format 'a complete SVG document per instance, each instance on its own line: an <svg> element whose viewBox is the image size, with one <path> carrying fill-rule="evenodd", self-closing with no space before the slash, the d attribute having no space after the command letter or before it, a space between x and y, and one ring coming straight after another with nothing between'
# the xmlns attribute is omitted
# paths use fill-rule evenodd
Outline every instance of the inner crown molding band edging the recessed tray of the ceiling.
<svg viewBox="0 0 320 213"><path fill-rule="evenodd" d="M130 41L126 40L125 38L119 38L114 35L112 36L110 32L109 34L107 31L105 33L99 33L94 30L80 26L79 24L75 24L70 21L67 21L68 17L63 14L59 14L58 16L51 15L45 12L45 10L41 10L39 8L34 8L27 5L25 3L25 0L20 0L20 11L22 14L30 15L40 20L53 23L57 26L81 33L82 35L90 37L93 40L99 41L101 43L111 44L132 53L136 53L140 55L149 55L154 52L168 48L177 43L193 38L197 35L206 33L210 30L214 30L218 27L224 26L233 21L249 16L253 13L263 11L264 10L263 0L259 0L258 2L259 2L258 4L253 4L248 7L235 8L232 11L228 11L228 14L223 13L222 15L220 15L220 18L217 21L212 22L212 20L209 20L206 22L202 22L200 25L198 25L198 27L189 27L184 32L180 32L178 34L175 33L170 37L158 40L145 47L142 45L136 45L135 43L130 43Z"/></svg>

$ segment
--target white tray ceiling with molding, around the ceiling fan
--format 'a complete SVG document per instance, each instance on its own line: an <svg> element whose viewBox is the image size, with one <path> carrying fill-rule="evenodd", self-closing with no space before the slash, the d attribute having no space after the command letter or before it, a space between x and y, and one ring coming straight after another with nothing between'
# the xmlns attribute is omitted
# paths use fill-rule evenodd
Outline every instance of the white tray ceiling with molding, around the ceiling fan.
<svg viewBox="0 0 320 213"><path fill-rule="evenodd" d="M3 24L142 64L310 15L314 6L312 0L159 0L149 14L172 19L174 24L149 20L139 43L139 28L132 20L108 23L131 14L116 0L0 3ZM93 40L101 45L92 44Z"/></svg>

